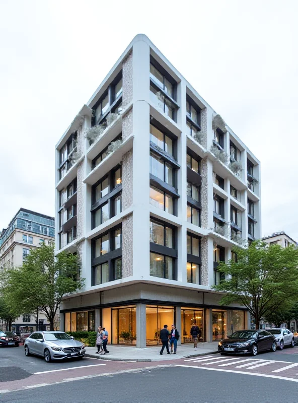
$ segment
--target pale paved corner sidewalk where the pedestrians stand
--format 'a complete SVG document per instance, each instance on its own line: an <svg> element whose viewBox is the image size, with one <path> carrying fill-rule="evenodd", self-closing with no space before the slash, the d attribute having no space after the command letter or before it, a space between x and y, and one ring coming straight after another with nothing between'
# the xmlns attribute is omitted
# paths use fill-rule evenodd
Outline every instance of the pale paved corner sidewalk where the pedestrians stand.
<svg viewBox="0 0 298 403"><path fill-rule="evenodd" d="M109 354L95 354L96 347L86 347L86 357L98 358L101 360L112 361L172 361L179 358L197 357L206 354L217 353L218 342L199 343L197 350L193 348L193 344L184 344L177 347L177 354L164 354L161 356L161 346L147 347L138 349L136 347L108 345Z"/></svg>

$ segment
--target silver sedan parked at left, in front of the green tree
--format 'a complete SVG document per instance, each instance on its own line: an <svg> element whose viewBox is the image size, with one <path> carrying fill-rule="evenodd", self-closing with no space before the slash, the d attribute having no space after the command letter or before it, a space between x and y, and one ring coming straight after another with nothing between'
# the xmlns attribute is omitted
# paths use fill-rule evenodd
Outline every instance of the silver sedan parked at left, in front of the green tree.
<svg viewBox="0 0 298 403"><path fill-rule="evenodd" d="M46 362L83 358L85 345L64 331L35 331L25 340L25 355L43 356Z"/></svg>

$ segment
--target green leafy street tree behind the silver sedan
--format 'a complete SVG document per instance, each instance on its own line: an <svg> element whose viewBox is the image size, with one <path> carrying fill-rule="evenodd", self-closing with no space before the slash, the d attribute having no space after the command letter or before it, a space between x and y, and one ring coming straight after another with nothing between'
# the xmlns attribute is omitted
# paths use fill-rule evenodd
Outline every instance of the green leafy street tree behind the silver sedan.
<svg viewBox="0 0 298 403"><path fill-rule="evenodd" d="M80 290L77 255L61 252L54 257L54 244L31 249L21 267L8 268L3 292L12 309L23 313L43 311L54 330L54 317L65 294Z"/></svg>

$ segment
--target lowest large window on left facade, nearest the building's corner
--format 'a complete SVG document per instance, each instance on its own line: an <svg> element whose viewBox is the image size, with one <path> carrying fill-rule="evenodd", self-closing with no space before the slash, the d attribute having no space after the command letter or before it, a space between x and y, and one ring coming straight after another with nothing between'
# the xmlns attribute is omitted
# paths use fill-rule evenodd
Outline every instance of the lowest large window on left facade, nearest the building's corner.
<svg viewBox="0 0 298 403"><path fill-rule="evenodd" d="M92 240L92 285L122 278L122 228L116 227Z"/></svg>

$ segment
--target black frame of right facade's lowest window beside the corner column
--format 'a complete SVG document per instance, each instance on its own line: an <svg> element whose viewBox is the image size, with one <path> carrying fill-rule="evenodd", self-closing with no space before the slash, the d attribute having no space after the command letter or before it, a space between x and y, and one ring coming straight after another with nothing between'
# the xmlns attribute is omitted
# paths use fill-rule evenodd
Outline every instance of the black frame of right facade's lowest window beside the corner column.
<svg viewBox="0 0 298 403"><path fill-rule="evenodd" d="M177 281L177 257L178 257L178 246L177 246L177 227L171 225L165 221L157 219L156 217L150 217L150 221L153 220L156 223L164 226L164 244L166 243L166 227L171 228L173 231L173 247L160 245L158 243L150 242L150 253L156 253L164 257L164 279L166 274L166 256L173 259L173 280ZM152 276L155 277L155 276Z"/></svg>

